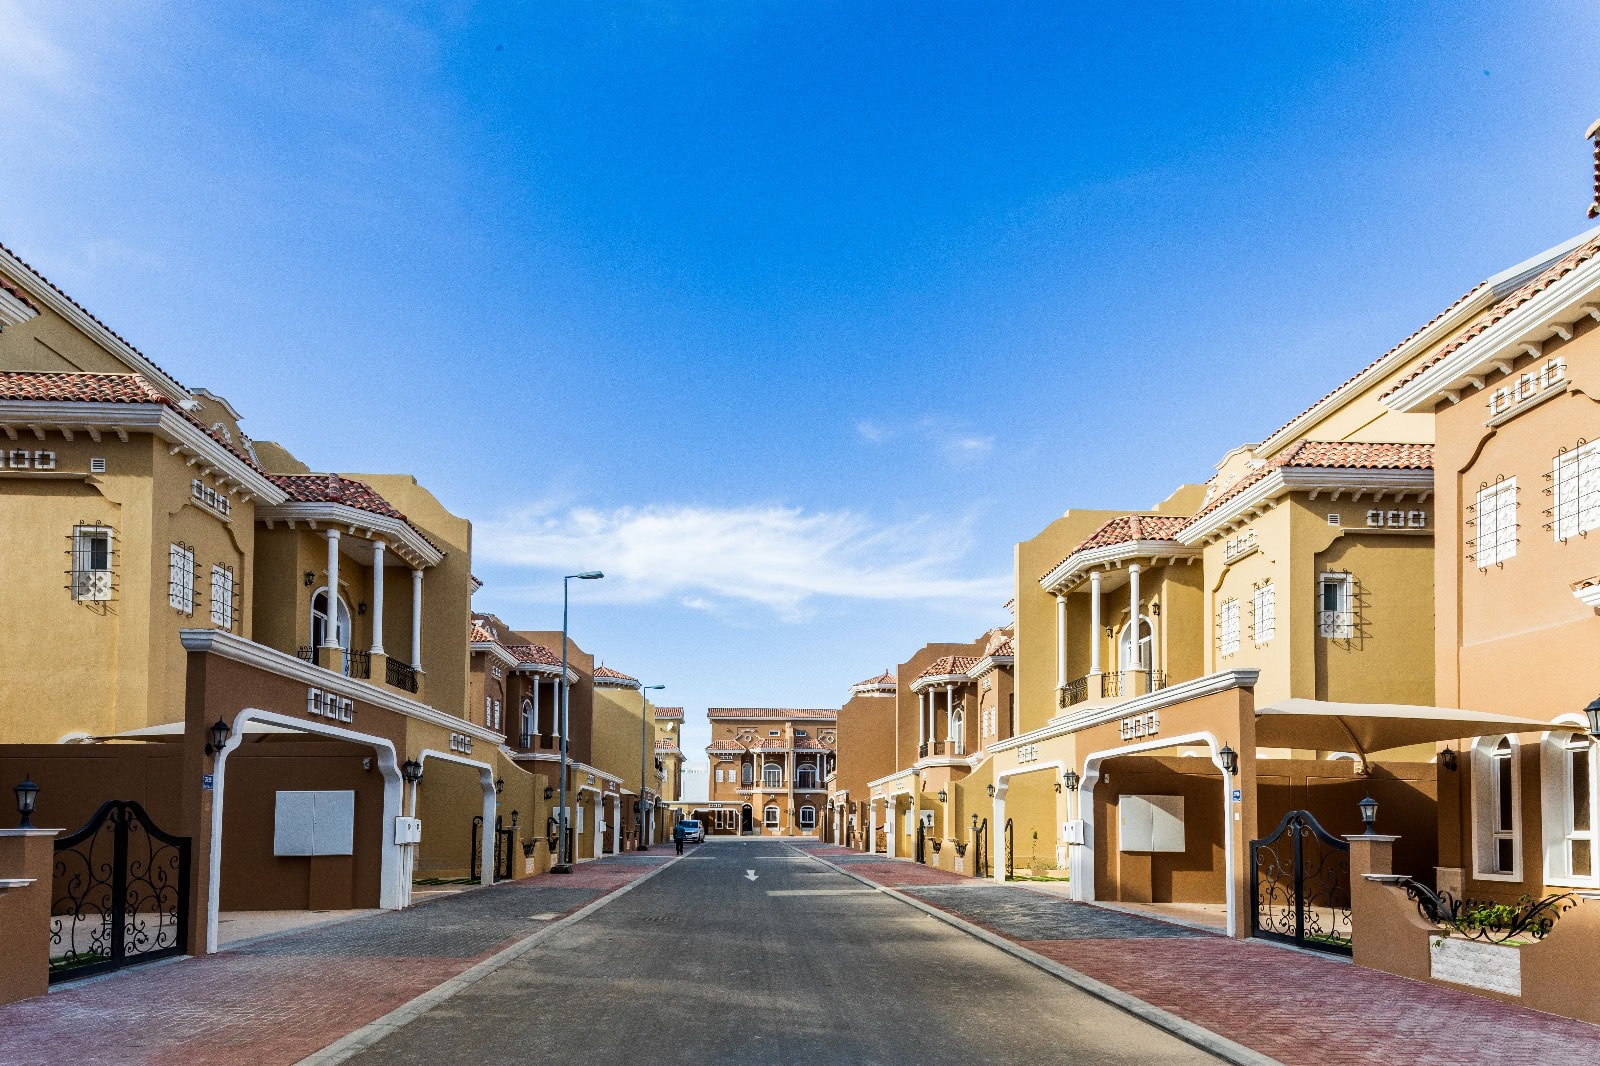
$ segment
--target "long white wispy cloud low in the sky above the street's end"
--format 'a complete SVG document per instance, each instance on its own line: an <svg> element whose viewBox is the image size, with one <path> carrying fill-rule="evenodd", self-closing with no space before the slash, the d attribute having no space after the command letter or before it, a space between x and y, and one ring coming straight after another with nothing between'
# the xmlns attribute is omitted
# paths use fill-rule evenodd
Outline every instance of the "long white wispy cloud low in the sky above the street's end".
<svg viewBox="0 0 1600 1066"><path fill-rule="evenodd" d="M475 554L491 563L557 571L598 568L587 595L691 610L760 605L786 621L814 600L1005 599L1010 576L965 576L968 535L958 523L920 519L874 523L850 512L798 507L531 506L482 523Z"/></svg>

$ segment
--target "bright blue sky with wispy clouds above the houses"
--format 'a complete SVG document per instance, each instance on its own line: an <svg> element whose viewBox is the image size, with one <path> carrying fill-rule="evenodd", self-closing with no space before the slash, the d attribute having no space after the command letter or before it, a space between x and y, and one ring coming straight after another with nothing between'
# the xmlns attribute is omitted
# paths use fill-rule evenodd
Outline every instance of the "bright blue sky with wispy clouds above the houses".
<svg viewBox="0 0 1600 1066"><path fill-rule="evenodd" d="M478 607L837 706L1586 227L1590 3L0 0L0 242ZM704 743L691 728L686 744ZM702 784L701 784L702 787Z"/></svg>

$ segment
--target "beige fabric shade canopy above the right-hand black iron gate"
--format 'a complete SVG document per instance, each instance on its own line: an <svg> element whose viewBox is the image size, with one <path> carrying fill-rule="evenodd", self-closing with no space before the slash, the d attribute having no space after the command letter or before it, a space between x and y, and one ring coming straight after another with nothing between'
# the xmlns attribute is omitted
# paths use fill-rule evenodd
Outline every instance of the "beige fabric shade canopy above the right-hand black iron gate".
<svg viewBox="0 0 1600 1066"><path fill-rule="evenodd" d="M1486 733L1539 733L1576 730L1565 722L1539 722L1486 711L1416 707L1400 703L1323 703L1280 699L1256 707L1256 744L1262 747L1314 747L1317 751L1368 752L1406 744L1483 736Z"/></svg>

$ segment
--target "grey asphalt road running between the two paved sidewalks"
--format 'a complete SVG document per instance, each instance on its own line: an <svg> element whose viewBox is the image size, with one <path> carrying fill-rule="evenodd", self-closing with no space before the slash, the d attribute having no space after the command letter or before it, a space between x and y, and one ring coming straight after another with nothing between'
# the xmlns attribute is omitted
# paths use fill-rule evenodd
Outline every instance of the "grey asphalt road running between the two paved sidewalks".
<svg viewBox="0 0 1600 1066"><path fill-rule="evenodd" d="M750 880L747 871L755 871ZM355 1063L1210 1063L795 850L691 847Z"/></svg>

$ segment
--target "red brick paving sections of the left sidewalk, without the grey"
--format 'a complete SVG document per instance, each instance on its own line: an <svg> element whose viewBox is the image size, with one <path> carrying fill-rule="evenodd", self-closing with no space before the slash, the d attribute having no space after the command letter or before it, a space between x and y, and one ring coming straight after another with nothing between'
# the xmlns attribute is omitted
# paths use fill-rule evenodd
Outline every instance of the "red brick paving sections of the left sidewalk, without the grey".
<svg viewBox="0 0 1600 1066"><path fill-rule="evenodd" d="M670 853L648 858L664 863ZM550 888L592 890L592 901L658 866L659 863L586 863L571 876L544 876L534 882ZM426 908L429 903L419 906ZM581 906L586 903L571 906L566 912ZM0 1063L296 1063L515 940L518 938L461 959L405 956L398 952L403 944L395 944L397 954L389 957L222 951L142 970L134 967L101 981L0 1007Z"/></svg>

